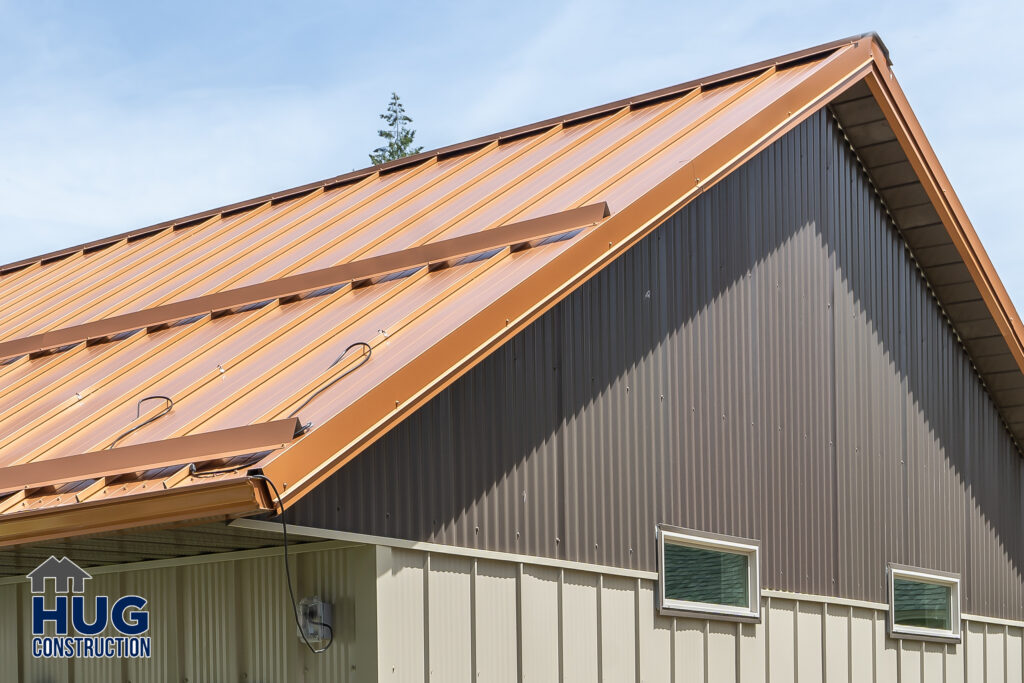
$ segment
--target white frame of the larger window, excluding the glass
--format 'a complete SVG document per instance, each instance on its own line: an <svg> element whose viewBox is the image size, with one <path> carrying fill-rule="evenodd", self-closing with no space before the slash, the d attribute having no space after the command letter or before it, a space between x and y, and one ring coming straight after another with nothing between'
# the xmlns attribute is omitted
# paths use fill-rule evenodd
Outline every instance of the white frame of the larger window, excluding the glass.
<svg viewBox="0 0 1024 683"><path fill-rule="evenodd" d="M706 548L718 552L746 555L748 599L745 607L720 605L712 602L676 600L665 595L665 546L674 544ZM657 596L658 612L667 616L695 616L730 622L761 621L761 542L731 536L709 533L694 529L658 524L657 526Z"/></svg>

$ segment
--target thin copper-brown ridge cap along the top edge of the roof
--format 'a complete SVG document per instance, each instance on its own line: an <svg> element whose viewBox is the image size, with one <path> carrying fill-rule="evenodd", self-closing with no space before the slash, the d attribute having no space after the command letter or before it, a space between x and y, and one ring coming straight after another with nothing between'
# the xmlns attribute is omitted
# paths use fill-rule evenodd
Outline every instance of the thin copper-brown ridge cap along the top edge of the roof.
<svg viewBox="0 0 1024 683"><path fill-rule="evenodd" d="M482 137L477 137L472 140L467 140L465 142L459 142L457 144L451 144L444 147L439 147L437 150L431 150L430 152L424 152L422 154L413 155L406 157L403 159L398 159L380 166L371 166L368 168L359 169L356 171L351 171L349 173L343 173L341 175L334 176L332 178L326 178L324 180L318 180L315 182L306 183L304 185L298 185L290 189L283 189L278 193L272 193L270 195L263 195L262 197L256 197L249 200L244 200L242 202L236 202L233 204L228 204L216 209L209 209L207 211L201 211L199 213L194 213L181 218L175 218L173 220L167 220L160 223L155 223L146 227L137 228L134 230L129 230L127 232L121 232L119 234L114 234L109 238L102 238L99 240L94 240L92 242L87 242L85 244L77 245L75 247L67 247L65 249L58 249L41 256L33 256L30 258L20 259L17 261L12 261L5 265L0 265L0 274L10 272L11 270L17 270L18 268L32 265L33 263L39 263L42 261L50 261L65 256L79 253L82 251L91 251L96 249L101 249L109 245L115 244L121 240L133 240L154 232L158 232L165 228L171 227L185 227L195 225L196 223L217 215L227 215L243 211L246 209L251 209L253 207L259 206L260 204L265 204L267 202L280 202L287 199L292 199L306 193L311 193L316 189L327 189L337 185L345 184L355 180L360 180L368 175L373 173L382 173L397 170L399 168L404 168L413 164L418 164L427 159L433 157L450 156L458 154L461 152L466 152L474 150L476 147L483 146L490 142L501 142L510 138L520 137L522 135L528 135L531 133L539 132L545 128L557 124L571 124L577 121L584 119L589 119L596 116L601 116L613 112L615 110L622 109L624 106L639 105L647 102L656 101L658 99L664 99L667 97L672 97L680 93L686 92L687 90L692 90L698 87L712 87L714 85L721 84L723 82L732 81L751 74L764 71L770 67L781 68L786 65L792 65L795 62L810 59L815 56L820 56L828 52L838 50L846 45L855 45L859 41L873 41L879 49L882 50L885 58L888 60L889 51L886 49L885 45L882 43L882 39L876 33L864 33L857 36L851 36L849 38L843 38L840 40L834 40L815 47L810 47L804 50L799 50L797 52L791 52L788 54L783 54L772 59L764 59L745 67L740 67L738 69L731 69L720 74L715 74L713 76L707 76L701 79L696 79L693 81L687 81L685 83L680 83L679 85L670 86L668 88L660 88L658 90L652 90L651 92L644 93L642 95L636 95L634 97L627 97L625 99L618 99L613 102L608 102L606 104L600 104L598 106L592 106L586 110L581 110L579 112L573 112L572 114L566 114L560 117L554 117L551 119L546 119L544 121L538 121L537 123L527 124L525 126L519 126L516 128L510 128L509 130L502 131L500 133L493 133L490 135L484 135Z"/></svg>

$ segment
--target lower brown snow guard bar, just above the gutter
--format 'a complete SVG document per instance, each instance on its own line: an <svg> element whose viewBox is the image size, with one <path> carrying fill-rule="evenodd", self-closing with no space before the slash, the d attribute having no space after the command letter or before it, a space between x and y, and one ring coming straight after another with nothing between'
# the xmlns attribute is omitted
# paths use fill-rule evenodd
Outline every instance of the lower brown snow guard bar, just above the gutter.
<svg viewBox="0 0 1024 683"><path fill-rule="evenodd" d="M13 465L0 469L0 492L38 488L66 481L84 481L282 449L294 440L298 426L296 418L275 420Z"/></svg>

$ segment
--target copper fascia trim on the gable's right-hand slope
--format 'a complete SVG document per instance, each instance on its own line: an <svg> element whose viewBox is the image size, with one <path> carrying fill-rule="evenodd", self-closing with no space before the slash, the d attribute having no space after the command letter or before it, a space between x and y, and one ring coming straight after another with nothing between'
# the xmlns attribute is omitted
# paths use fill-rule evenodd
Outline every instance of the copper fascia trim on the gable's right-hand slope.
<svg viewBox="0 0 1024 683"><path fill-rule="evenodd" d="M946 177L935 151L910 109L892 69L876 59L866 84L892 128L921 184L939 214L949 239L971 273L985 307L1010 347L1017 367L1024 372L1024 325L992 265L959 198Z"/></svg>

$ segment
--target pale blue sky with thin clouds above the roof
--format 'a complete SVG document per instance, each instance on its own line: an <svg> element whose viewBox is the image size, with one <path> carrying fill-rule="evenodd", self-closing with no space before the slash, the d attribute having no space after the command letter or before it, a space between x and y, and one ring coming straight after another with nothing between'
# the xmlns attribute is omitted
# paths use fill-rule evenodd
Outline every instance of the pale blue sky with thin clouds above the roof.
<svg viewBox="0 0 1024 683"><path fill-rule="evenodd" d="M1024 3L0 0L0 262L864 31L1018 309Z"/></svg>

